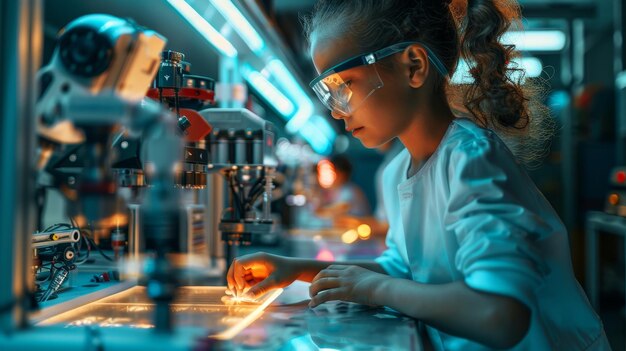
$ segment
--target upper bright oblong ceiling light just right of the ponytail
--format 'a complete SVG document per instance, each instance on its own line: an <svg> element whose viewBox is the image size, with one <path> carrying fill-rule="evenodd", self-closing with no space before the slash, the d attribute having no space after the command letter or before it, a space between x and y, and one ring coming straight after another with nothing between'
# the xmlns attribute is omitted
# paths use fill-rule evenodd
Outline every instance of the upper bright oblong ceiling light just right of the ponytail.
<svg viewBox="0 0 626 351"><path fill-rule="evenodd" d="M566 37L560 30L512 31L504 33L500 41L519 51L561 51Z"/></svg>

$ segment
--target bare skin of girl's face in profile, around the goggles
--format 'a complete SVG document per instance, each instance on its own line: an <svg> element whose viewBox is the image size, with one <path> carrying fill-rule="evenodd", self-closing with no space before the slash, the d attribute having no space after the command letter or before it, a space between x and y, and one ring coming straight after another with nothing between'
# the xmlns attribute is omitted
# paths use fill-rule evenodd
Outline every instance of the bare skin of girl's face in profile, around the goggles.
<svg viewBox="0 0 626 351"><path fill-rule="evenodd" d="M359 52L354 41L349 38L320 38L312 36L311 53L313 64L318 73L334 65L363 54ZM381 63L375 63L375 71L371 65L357 66L342 72L344 81L349 82L355 91L359 84L367 86L376 72L383 86L375 90L351 114L331 112L335 119L342 119L346 131L352 133L367 148L378 147L400 135L410 123L415 109L415 89L408 84L408 70L402 69L397 54Z"/></svg>

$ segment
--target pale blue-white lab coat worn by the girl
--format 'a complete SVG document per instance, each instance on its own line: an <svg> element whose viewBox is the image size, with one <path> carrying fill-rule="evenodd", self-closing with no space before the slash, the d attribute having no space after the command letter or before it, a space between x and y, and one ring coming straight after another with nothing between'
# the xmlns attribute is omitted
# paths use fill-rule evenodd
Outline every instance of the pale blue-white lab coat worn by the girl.
<svg viewBox="0 0 626 351"><path fill-rule="evenodd" d="M567 231L492 131L459 118L407 179L403 150L385 169L387 250L377 262L420 283L463 279L532 310L513 350L609 350L603 326L576 281ZM427 327L438 350L487 350Z"/></svg>

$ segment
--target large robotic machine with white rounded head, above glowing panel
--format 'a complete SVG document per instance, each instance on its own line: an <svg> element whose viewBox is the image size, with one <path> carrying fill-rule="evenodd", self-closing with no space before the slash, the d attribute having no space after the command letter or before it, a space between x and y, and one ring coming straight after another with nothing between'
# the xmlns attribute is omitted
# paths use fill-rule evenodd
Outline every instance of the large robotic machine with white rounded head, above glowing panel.
<svg viewBox="0 0 626 351"><path fill-rule="evenodd" d="M81 228L118 218L108 238L114 256L139 262L151 325L171 332L170 307L189 262L172 254L209 258L218 235L209 218L219 221L226 263L238 245L270 232L277 160L272 124L245 109L214 108L215 82L192 75L184 54L164 46L159 34L108 15L81 17L60 33L38 77L38 194L59 189L70 224L33 234L33 269L50 267L40 281L45 302L84 262L79 244L97 245ZM224 177L227 203L200 200L210 174ZM44 212L40 204L40 226Z"/></svg>

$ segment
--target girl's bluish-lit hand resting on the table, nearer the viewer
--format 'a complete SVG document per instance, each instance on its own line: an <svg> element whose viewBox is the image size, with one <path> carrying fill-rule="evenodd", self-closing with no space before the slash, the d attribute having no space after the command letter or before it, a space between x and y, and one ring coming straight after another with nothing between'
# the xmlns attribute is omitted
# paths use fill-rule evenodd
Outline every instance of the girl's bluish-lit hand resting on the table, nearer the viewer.
<svg viewBox="0 0 626 351"><path fill-rule="evenodd" d="M389 276L359 266L328 266L311 282L309 307L334 300L377 305L373 298L374 292L385 279L389 279Z"/></svg>

